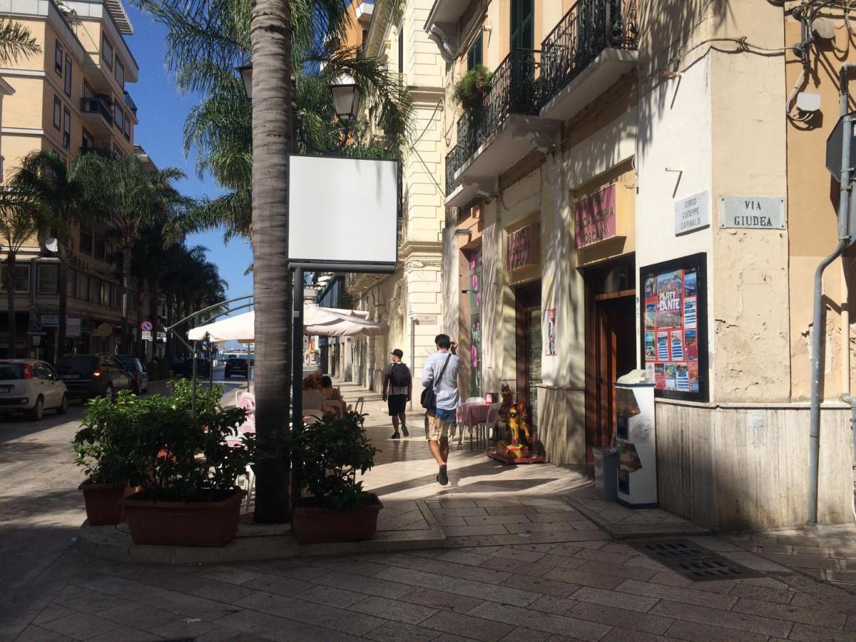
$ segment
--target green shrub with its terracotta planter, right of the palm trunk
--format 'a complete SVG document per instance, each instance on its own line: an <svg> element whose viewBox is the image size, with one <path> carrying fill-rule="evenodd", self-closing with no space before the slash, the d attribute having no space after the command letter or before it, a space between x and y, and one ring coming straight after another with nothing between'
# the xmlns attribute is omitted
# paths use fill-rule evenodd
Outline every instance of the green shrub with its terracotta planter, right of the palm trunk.
<svg viewBox="0 0 856 642"><path fill-rule="evenodd" d="M300 544L371 539L383 503L363 490L356 473L374 465L377 449L366 438L360 413L326 413L299 433L289 433L288 452L306 496L295 502L292 527Z"/></svg>

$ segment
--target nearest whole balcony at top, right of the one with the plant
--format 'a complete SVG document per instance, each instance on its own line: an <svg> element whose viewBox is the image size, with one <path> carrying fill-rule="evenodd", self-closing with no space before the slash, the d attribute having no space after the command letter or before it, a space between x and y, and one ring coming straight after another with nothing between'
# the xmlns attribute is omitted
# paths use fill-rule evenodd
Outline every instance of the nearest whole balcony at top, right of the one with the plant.
<svg viewBox="0 0 856 642"><path fill-rule="evenodd" d="M636 0L579 0L542 43L541 116L568 120L636 66Z"/></svg>

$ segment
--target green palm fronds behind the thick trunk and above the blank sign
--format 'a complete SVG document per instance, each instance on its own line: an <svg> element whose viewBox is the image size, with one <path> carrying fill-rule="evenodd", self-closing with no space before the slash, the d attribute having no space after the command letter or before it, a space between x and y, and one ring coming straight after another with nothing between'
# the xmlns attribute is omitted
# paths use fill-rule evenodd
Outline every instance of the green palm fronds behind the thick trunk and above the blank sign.
<svg viewBox="0 0 856 642"><path fill-rule="evenodd" d="M181 90L204 92L187 116L185 152L196 153L200 174L210 171L228 192L203 199L179 223L180 233L224 229L224 238L251 236L252 106L232 71L250 58L247 0L134 0L169 29L167 65ZM400 10L401 0L382 0ZM338 0L292 0L292 70L300 153L324 152L362 158L400 158L407 140L410 98L386 62L339 47L349 16ZM367 97L383 141L364 144L366 123L352 128L348 145L330 97L330 81L347 72Z"/></svg>

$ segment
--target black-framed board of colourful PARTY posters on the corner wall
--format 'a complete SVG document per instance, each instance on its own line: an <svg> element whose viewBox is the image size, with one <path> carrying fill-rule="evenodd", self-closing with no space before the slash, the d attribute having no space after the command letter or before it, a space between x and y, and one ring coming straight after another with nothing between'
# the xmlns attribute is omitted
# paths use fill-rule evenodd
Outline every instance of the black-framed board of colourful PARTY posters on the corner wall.
<svg viewBox="0 0 856 642"><path fill-rule="evenodd" d="M658 397L708 401L707 255L639 270L641 363Z"/></svg>

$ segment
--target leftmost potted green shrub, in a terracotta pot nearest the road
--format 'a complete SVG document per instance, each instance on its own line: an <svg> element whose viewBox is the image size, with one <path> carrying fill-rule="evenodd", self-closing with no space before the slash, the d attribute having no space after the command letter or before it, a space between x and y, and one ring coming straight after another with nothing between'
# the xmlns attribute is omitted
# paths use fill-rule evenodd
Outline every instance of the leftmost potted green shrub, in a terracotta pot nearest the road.
<svg viewBox="0 0 856 642"><path fill-rule="evenodd" d="M132 492L128 484L135 469L126 453L134 436L135 417L128 412L128 398L126 393L116 403L106 397L89 401L80 431L71 442L74 463L86 473L78 488L83 491L90 526L121 522L119 500Z"/></svg>

